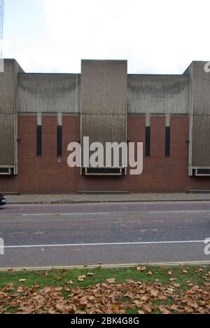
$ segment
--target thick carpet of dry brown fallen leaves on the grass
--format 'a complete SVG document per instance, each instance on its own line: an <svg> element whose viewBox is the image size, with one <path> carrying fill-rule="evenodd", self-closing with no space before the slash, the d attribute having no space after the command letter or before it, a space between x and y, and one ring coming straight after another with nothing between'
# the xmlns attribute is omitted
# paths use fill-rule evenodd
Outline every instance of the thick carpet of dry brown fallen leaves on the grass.
<svg viewBox="0 0 210 328"><path fill-rule="evenodd" d="M169 268L167 269L169 270ZM113 278L111 278L113 282ZM122 283L103 282L87 288L31 287L20 286L13 289L12 284L0 287L0 314L7 313L9 308L17 308L17 313L28 314L126 314L127 310L139 310L139 314L152 313L159 309L168 314L209 314L209 282L195 285L192 282L188 289L181 289L179 284L139 282L127 280ZM71 285L71 284L69 284ZM179 288L177 293L176 288ZM12 292L10 292L10 289ZM64 297L68 292L69 296ZM125 297L127 302L125 302ZM160 306L156 301L173 299L173 305Z"/></svg>

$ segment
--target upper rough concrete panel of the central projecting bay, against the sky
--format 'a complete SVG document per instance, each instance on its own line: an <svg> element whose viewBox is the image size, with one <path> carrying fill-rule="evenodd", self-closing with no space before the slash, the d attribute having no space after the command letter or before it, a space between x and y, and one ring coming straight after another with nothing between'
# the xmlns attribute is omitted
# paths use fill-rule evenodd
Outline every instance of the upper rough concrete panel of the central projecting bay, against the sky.
<svg viewBox="0 0 210 328"><path fill-rule="evenodd" d="M127 115L127 61L82 60L82 114Z"/></svg>

